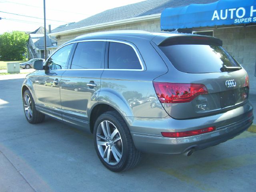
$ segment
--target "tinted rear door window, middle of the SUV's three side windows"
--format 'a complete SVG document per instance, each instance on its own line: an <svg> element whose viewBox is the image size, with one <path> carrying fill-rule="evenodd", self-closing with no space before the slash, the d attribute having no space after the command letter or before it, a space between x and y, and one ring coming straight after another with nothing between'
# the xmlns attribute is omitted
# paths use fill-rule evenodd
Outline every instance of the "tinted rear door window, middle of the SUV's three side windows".
<svg viewBox="0 0 256 192"><path fill-rule="evenodd" d="M105 44L103 41L80 42L76 47L71 69L103 68Z"/></svg>

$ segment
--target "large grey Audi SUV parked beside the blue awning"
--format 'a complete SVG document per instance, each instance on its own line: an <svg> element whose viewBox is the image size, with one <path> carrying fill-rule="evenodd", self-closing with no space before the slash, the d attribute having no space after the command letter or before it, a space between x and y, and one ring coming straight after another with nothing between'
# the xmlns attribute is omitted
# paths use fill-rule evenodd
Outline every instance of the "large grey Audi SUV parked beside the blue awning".
<svg viewBox="0 0 256 192"><path fill-rule="evenodd" d="M86 34L34 68L22 84L28 122L48 115L83 127L114 172L134 167L142 152L190 156L235 137L253 120L248 75L214 37ZM55 87L42 84L48 78ZM83 92L73 89L82 85Z"/></svg>

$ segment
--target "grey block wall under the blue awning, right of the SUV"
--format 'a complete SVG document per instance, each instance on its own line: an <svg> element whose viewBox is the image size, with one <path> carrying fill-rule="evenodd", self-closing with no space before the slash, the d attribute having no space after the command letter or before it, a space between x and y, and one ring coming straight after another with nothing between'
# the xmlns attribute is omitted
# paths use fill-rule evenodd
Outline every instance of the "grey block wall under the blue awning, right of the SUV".
<svg viewBox="0 0 256 192"><path fill-rule="evenodd" d="M223 40L223 47L246 69L250 93L256 94L256 26L218 28L214 37Z"/></svg>

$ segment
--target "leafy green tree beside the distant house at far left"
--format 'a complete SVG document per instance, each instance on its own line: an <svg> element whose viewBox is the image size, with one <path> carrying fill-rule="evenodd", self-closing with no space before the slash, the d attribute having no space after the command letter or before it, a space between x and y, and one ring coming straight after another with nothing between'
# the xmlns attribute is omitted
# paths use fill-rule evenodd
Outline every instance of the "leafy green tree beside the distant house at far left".
<svg viewBox="0 0 256 192"><path fill-rule="evenodd" d="M0 60L23 60L26 53L28 34L20 31L0 35Z"/></svg>

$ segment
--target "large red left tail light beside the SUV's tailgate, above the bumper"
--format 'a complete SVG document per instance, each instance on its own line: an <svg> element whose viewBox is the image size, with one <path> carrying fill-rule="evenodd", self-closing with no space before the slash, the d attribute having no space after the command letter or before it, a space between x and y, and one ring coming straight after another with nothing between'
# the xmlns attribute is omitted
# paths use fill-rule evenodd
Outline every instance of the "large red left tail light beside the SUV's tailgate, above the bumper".
<svg viewBox="0 0 256 192"><path fill-rule="evenodd" d="M153 82L161 103L186 103L196 96L208 94L203 84Z"/></svg>

